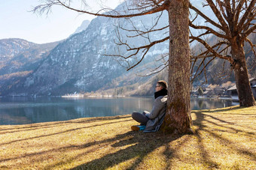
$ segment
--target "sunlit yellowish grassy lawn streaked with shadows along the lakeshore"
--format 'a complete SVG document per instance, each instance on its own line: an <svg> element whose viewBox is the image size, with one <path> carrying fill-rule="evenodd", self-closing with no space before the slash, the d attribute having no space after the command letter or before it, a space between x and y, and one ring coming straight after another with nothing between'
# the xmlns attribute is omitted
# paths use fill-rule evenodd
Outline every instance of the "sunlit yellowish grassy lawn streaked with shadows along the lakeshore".
<svg viewBox="0 0 256 170"><path fill-rule="evenodd" d="M0 126L0 169L256 169L256 106L192 118L184 136L133 132L130 115Z"/></svg>

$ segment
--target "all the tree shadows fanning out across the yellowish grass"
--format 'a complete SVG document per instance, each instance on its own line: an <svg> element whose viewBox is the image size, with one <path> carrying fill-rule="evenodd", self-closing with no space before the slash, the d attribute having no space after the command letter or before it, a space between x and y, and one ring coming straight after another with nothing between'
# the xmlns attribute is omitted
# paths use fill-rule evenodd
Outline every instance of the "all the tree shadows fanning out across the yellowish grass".
<svg viewBox="0 0 256 170"><path fill-rule="evenodd" d="M163 165L160 165L160 167L163 169L170 169L172 167L177 167L177 163L175 163L174 161L178 159L181 159L180 161L182 162L183 161L187 162L189 160L191 163L191 166L193 165L194 157L190 157L189 153L183 151L184 148L187 149L186 147L190 147L190 140L192 139L194 141L197 141L196 144L194 143L194 145L196 145L194 151L197 151L198 149L197 154L200 155L199 156L200 163L202 163L203 165L206 165L206 167L209 167L209 169L218 169L221 167L221 165L212 157L212 154L211 154L212 152L210 151L211 148L209 148L209 144L206 144L204 140L204 138L206 137L204 135L206 133L208 136L210 136L210 138L215 139L215 141L217 142L224 142L224 143L230 144L225 146L225 148L235 150L236 153L239 153L240 155L245 156L245 159L247 159L248 161L255 160L255 156L253 152L248 151L248 149L246 148L242 148L241 145L236 144L234 141L226 138L225 136L220 136L220 134L218 134L218 132L213 131L211 127L211 126L215 126L215 129L218 129L219 127L220 130L223 130L225 133L230 133L230 132L236 132L237 130L239 130L236 128L236 124L233 124L232 122L227 121L228 119L221 118L221 116L215 117L215 115L204 114L204 111L194 112L194 113L195 113L194 124L198 126L198 129L196 130L195 135L164 136L163 133L142 133L141 131L139 132L134 132L134 131L120 132L119 131L121 134L115 133L117 135L111 138L105 138L99 141L90 140L90 142L82 142L79 145L70 144L70 145L59 147L59 148L50 148L47 151L36 151L30 154L23 154L16 157L0 159L0 163L9 161L9 160L16 161L16 160L22 160L22 159L29 159L29 160L38 161L38 162L44 160L45 162L48 162L47 165L43 166L44 169L59 169L59 167L71 166L72 163L79 163L79 161L83 161L83 163L81 163L80 165L76 164L79 166L76 166L73 169L97 169L98 170L98 169L108 169L114 166L117 166L117 169L118 169L120 168L120 166L123 166L123 165L125 169L141 169L142 165L145 167L148 166L147 161L145 160L147 160L148 157L151 157L151 154L154 151L161 149L161 152L157 153L157 155L161 154L161 156L165 157L164 158L165 163ZM128 116L124 116L120 118L128 118ZM90 127L102 126L102 128L104 128L105 125L114 126L114 123L118 124L118 122L131 121L131 119L119 120L120 118L119 117L110 118L109 122L102 122L102 121L108 121L108 118L102 118L101 121L96 122L96 124L93 124ZM69 123L86 124L87 120L75 120ZM57 132L57 133L50 133L44 136L35 136L32 138L21 139L21 140L37 139L45 136L54 136L57 134L72 132L73 130L80 130L80 129L90 128L90 127L85 126L85 127L79 127L79 128L72 128L70 130L62 130L61 132ZM44 128L44 126L42 126L41 128ZM248 133L248 135L250 135L249 136L250 138L252 137L251 134ZM21 140L14 140L12 142L20 142ZM104 150L104 151L101 152L101 150ZM66 157L66 158L64 158L65 156L63 156L63 159L56 160L52 164L50 162L50 159L47 157L52 153L65 155L67 153L72 153L72 152L76 154L74 155L71 154L71 156L69 155L69 157ZM95 160L93 160L93 157L87 158L87 157L90 157L92 154L96 154ZM179 154L183 154L185 156L181 157L181 155ZM172 164L175 164L175 165L172 165Z"/></svg>

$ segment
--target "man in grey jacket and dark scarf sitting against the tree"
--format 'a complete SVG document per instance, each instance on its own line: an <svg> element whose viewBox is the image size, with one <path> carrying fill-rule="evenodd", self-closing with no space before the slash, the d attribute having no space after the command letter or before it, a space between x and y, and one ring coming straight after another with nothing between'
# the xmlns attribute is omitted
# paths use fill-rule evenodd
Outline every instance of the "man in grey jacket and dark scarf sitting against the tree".
<svg viewBox="0 0 256 170"><path fill-rule="evenodd" d="M132 126L132 130L144 130L144 133L157 132L163 123L166 114L167 82L160 80L155 87L154 105L151 112L133 112L132 117L140 123L139 126Z"/></svg>

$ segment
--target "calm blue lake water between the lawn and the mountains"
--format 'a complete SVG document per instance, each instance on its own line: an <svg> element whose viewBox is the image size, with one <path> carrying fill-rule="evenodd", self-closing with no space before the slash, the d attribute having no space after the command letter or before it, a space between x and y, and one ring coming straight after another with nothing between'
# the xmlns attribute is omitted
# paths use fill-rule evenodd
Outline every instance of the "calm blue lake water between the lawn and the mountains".
<svg viewBox="0 0 256 170"><path fill-rule="evenodd" d="M2 97L0 98L0 125L33 124L47 121L67 121L127 115L151 111L153 97L122 98L61 98L61 97ZM233 106L231 100L191 99L191 109L215 109Z"/></svg>

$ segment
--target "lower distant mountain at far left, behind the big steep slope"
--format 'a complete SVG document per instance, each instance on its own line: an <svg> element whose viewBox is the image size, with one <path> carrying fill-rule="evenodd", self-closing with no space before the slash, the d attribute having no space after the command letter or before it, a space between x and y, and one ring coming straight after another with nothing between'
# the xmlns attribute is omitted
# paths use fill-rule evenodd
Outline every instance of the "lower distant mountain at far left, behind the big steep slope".
<svg viewBox="0 0 256 170"><path fill-rule="evenodd" d="M36 44L15 38L0 40L0 95L33 73L58 43Z"/></svg>

